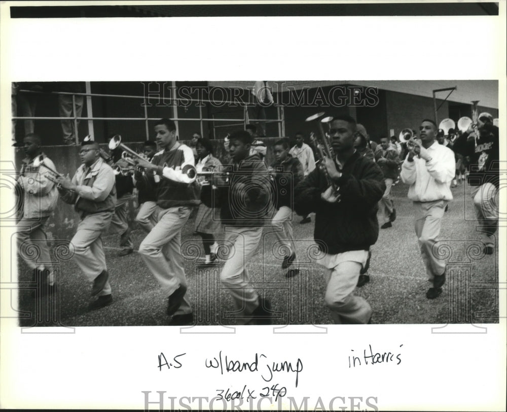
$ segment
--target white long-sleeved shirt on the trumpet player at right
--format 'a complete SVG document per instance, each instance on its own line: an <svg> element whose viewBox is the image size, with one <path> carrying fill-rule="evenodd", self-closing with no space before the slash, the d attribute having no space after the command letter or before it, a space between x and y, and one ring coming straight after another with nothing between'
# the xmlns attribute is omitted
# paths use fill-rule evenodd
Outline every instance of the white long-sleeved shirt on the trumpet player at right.
<svg viewBox="0 0 507 412"><path fill-rule="evenodd" d="M456 172L454 152L437 141L426 150L431 156L430 161L414 156L409 162L407 155L402 164L400 176L410 185L409 199L419 202L452 200L450 186Z"/></svg>

